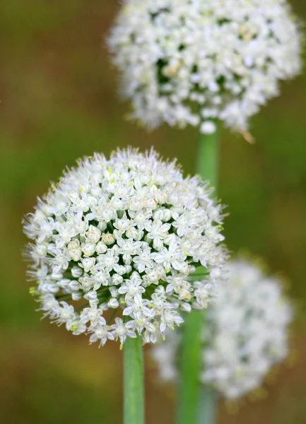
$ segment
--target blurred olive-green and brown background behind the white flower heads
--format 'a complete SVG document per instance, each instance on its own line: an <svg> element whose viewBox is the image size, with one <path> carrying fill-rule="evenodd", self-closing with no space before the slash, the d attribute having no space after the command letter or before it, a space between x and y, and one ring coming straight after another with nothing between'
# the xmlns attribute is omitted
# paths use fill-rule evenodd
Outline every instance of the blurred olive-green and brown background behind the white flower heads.
<svg viewBox="0 0 306 424"><path fill-rule="evenodd" d="M295 11L306 18L305 0ZM0 407L15 424L122 422L122 354L40 321L28 295L21 219L66 165L117 146L155 146L194 171L196 131L164 127L147 134L124 121L105 35L114 0L1 0L0 4ZM245 401L220 424L306 423L306 78L282 86L252 120L250 146L223 131L220 197L230 216L233 252L249 249L291 281L298 309L293 360L267 386L260 402ZM147 360L148 424L172 423L174 394L158 383Z"/></svg>

